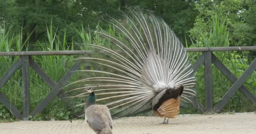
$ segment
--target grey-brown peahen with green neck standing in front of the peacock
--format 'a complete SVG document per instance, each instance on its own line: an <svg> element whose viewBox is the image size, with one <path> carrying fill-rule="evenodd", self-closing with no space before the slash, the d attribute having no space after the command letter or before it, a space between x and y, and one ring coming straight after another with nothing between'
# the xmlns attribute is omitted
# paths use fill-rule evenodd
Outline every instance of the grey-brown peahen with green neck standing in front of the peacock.
<svg viewBox="0 0 256 134"><path fill-rule="evenodd" d="M89 93L85 101L85 121L96 134L112 134L112 118L109 108L95 104L93 88L87 88Z"/></svg>

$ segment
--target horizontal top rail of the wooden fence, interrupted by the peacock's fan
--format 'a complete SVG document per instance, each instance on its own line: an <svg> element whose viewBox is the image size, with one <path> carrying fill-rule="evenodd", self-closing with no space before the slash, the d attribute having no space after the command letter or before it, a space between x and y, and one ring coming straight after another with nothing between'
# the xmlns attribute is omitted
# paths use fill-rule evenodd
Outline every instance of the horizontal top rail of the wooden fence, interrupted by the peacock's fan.
<svg viewBox="0 0 256 134"><path fill-rule="evenodd" d="M253 51L256 46L230 46L230 47L196 47L185 48L187 52L214 52L214 51ZM118 51L117 51L118 52ZM22 56L22 55L82 55L82 54L104 54L103 51L28 51L28 52L0 52L0 56Z"/></svg>

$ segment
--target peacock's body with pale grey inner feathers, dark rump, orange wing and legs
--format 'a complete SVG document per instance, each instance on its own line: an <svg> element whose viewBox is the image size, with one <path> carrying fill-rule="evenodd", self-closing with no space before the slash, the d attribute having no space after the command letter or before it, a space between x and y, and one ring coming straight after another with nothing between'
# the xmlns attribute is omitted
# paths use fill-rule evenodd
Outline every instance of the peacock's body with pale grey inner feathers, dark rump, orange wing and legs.
<svg viewBox="0 0 256 134"><path fill-rule="evenodd" d="M141 82L153 89L152 110L156 116L175 118L179 114L180 96L184 86L175 87L174 82L168 82L172 77L166 62L155 52L149 52L147 61L142 67ZM167 123L168 123L167 119ZM165 119L163 124L165 124Z"/></svg>

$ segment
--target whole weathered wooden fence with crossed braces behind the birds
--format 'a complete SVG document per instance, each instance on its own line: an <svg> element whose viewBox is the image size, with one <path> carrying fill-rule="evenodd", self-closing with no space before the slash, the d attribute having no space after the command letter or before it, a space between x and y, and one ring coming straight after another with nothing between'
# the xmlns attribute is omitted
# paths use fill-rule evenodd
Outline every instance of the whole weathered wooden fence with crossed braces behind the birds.
<svg viewBox="0 0 256 134"><path fill-rule="evenodd" d="M203 52L197 61L192 65L194 72L204 64L205 66L205 107L202 106L196 99L193 106L197 108L200 113L215 112L219 113L221 109L227 104L237 90L240 90L251 103L256 104L256 97L250 93L243 83L256 70L256 59L251 62L250 66L245 70L243 75L239 78L234 74L212 53L213 51L243 51L256 50L256 46L241 46L241 47L210 47L210 48L186 48L187 52ZM40 55L80 55L80 54L103 54L103 52L92 51L42 51L42 52L0 52L0 56L19 56L20 58L10 67L8 71L0 78L0 91L3 85L11 78L11 76L22 67L23 79L23 111L22 114L11 103L11 101L0 92L0 102L8 108L11 113L18 119L27 120L28 116L32 117L42 112L43 109L50 103L53 98L61 92L61 89L67 84L70 78L79 70L82 63L76 62L69 71L61 78L59 82L54 82L42 68L31 58L31 56ZM221 101L213 107L213 85L212 85L212 64L214 64L232 83L233 85L227 93L224 94ZM40 102L40 104L31 112L30 111L30 96L29 96L29 67L43 79L43 81L52 88L51 92Z"/></svg>

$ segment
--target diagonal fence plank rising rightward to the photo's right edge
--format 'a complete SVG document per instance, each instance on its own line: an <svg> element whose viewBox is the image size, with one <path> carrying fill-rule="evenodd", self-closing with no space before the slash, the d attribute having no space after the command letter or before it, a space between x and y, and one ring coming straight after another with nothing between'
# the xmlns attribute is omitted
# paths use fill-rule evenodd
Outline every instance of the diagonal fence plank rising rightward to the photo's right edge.
<svg viewBox="0 0 256 134"><path fill-rule="evenodd" d="M229 88L227 93L222 97L221 101L216 104L214 111L216 113L219 113L221 109L227 104L227 102L232 98L232 96L235 94L235 92L243 85L243 83L247 80L247 78L253 73L253 71L256 69L256 59L253 60L253 62L250 64L250 66L245 70L243 75L241 75L235 83Z"/></svg>

